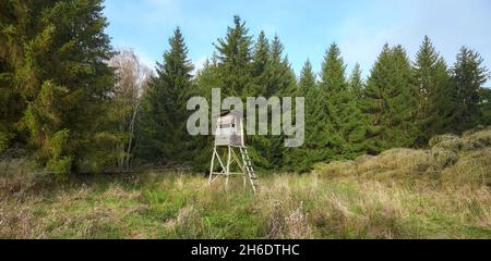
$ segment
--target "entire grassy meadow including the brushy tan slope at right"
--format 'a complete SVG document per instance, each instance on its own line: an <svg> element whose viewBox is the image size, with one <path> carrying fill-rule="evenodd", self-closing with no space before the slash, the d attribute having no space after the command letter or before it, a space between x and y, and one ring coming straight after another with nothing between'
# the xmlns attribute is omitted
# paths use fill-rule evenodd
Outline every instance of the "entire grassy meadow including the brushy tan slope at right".
<svg viewBox="0 0 491 261"><path fill-rule="evenodd" d="M0 238L491 238L491 129L260 173L255 196L239 178L226 191L184 173L51 183L22 159L0 170Z"/></svg>

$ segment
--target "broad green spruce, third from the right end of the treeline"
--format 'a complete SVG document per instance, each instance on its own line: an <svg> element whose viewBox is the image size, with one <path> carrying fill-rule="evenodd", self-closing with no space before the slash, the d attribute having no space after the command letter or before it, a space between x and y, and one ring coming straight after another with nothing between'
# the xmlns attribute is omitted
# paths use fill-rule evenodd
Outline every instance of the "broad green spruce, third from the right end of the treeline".
<svg viewBox="0 0 491 261"><path fill-rule="evenodd" d="M368 152L412 146L418 94L409 59L400 46L384 46L363 92L361 109L370 123Z"/></svg>

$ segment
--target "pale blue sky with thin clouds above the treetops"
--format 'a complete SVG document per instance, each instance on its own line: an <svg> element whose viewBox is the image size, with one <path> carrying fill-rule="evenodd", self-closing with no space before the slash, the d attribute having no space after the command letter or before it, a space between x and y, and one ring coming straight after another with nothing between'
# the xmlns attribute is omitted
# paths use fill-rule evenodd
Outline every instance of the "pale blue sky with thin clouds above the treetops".
<svg viewBox="0 0 491 261"><path fill-rule="evenodd" d="M307 59L319 72L332 42L339 45L348 70L359 62L367 75L385 42L403 45L412 59L424 35L447 63L465 45L491 69L489 0L106 0L105 5L112 45L134 49L151 67L161 61L176 26L200 67L238 14L251 35L280 37L297 75Z"/></svg>

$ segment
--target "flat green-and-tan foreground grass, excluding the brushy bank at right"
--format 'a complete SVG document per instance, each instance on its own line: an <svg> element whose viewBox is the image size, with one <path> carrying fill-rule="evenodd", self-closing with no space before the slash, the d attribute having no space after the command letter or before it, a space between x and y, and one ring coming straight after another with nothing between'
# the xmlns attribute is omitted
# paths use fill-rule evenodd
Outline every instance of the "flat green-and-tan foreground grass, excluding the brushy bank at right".
<svg viewBox="0 0 491 261"><path fill-rule="evenodd" d="M484 186L279 175L252 196L240 181L225 191L199 176L149 179L4 200L0 238L491 238Z"/></svg>

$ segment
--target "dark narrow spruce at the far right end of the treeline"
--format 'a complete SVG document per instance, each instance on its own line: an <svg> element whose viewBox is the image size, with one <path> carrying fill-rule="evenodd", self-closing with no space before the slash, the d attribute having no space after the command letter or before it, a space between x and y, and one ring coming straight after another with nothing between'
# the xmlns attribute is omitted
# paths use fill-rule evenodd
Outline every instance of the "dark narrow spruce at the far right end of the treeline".
<svg viewBox="0 0 491 261"><path fill-rule="evenodd" d="M489 78L480 54L466 47L460 49L452 69L452 120L446 129L462 133L476 126L480 119L479 90Z"/></svg>

